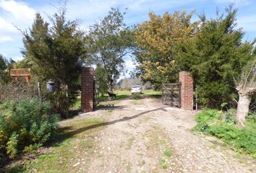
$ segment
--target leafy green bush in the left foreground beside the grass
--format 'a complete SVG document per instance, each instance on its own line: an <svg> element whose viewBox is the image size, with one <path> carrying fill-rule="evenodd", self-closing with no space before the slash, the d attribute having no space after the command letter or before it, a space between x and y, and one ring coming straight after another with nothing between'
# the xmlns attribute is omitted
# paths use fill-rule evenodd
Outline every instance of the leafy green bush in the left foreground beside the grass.
<svg viewBox="0 0 256 173"><path fill-rule="evenodd" d="M21 99L0 105L0 156L14 157L19 151L41 146L58 128L57 117L49 115L49 102ZM1 164L1 163L0 163Z"/></svg>

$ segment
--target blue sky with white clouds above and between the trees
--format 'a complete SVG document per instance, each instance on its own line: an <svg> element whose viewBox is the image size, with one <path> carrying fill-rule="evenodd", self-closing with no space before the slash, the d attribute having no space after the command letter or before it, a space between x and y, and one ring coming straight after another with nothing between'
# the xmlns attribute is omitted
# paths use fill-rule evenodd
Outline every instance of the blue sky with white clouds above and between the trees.
<svg viewBox="0 0 256 173"><path fill-rule="evenodd" d="M22 59L20 50L23 48L22 35L17 28L29 30L33 24L35 13L39 12L47 20L47 16L56 12L59 0L0 0L0 53L14 61ZM256 0L69 0L67 18L80 19L82 30L86 30L99 19L108 14L111 6L119 7L126 12L124 22L135 25L148 20L148 12L162 15L176 10L205 13L208 19L216 17L216 9L223 12L225 6L234 3L239 9L237 14L238 27L242 27L244 40L252 41L256 37ZM128 9L127 9L128 8ZM135 67L131 58L125 58L128 71ZM124 75L127 76L128 74Z"/></svg>

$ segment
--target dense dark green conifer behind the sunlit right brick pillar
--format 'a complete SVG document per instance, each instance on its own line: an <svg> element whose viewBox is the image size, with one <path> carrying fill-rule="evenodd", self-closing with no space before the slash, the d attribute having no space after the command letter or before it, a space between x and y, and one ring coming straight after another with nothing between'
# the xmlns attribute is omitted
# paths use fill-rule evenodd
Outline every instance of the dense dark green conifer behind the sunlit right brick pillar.
<svg viewBox="0 0 256 173"><path fill-rule="evenodd" d="M208 107L220 107L222 102L234 104L237 97L234 76L249 61L249 43L242 43L242 29L236 27L237 10L226 8L225 14L206 20L202 16L200 32L180 45L179 69L192 71L199 101Z"/></svg>

